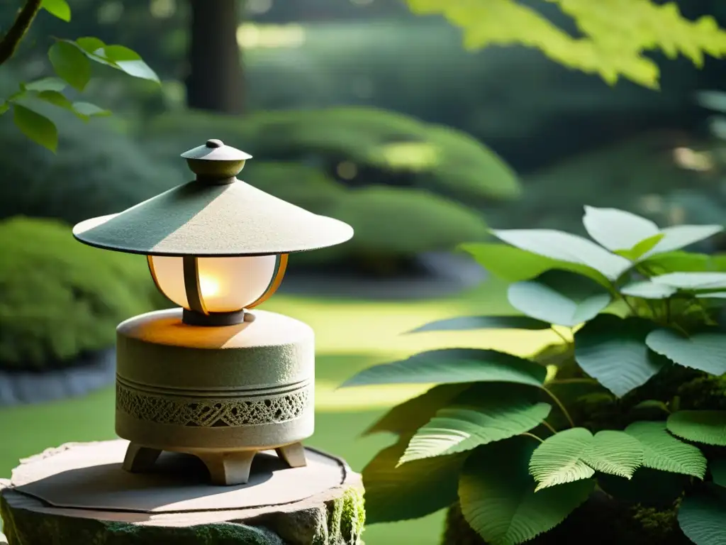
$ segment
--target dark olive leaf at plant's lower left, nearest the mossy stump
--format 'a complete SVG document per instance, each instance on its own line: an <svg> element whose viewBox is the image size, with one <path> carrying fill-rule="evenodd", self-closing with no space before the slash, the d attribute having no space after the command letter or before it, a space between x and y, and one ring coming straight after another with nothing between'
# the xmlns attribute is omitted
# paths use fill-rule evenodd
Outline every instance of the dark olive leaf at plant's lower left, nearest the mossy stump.
<svg viewBox="0 0 726 545"><path fill-rule="evenodd" d="M459 472L467 453L396 467L407 443L405 437L384 448L363 469L368 524L424 517L457 501Z"/></svg>

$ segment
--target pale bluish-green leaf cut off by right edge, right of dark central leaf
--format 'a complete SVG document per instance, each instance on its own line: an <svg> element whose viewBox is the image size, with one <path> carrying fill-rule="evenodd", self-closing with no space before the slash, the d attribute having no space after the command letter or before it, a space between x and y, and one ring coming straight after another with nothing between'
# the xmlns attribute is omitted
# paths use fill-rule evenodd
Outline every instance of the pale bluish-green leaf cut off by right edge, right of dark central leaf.
<svg viewBox="0 0 726 545"><path fill-rule="evenodd" d="M684 337L672 329L656 329L645 344L681 366L718 376L726 373L726 334L704 331Z"/></svg>

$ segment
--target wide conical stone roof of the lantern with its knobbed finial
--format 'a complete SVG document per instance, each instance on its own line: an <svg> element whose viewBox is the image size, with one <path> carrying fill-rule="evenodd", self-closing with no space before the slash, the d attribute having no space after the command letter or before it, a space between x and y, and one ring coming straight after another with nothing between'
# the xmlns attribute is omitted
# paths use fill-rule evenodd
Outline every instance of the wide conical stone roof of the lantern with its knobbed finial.
<svg viewBox="0 0 726 545"><path fill-rule="evenodd" d="M209 140L182 154L197 179L119 214L73 227L81 242L131 254L200 257L290 254L335 246L350 225L313 214L235 176L251 156ZM295 182L294 180L292 181Z"/></svg>

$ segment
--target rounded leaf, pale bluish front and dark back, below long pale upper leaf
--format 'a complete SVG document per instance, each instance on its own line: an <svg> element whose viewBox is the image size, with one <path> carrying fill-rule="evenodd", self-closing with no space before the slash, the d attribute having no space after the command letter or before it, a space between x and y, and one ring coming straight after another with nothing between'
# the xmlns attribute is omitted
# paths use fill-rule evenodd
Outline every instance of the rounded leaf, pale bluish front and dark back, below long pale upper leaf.
<svg viewBox="0 0 726 545"><path fill-rule="evenodd" d="M568 327L594 318L611 302L610 294L589 278L554 270L511 284L507 298L531 318Z"/></svg>

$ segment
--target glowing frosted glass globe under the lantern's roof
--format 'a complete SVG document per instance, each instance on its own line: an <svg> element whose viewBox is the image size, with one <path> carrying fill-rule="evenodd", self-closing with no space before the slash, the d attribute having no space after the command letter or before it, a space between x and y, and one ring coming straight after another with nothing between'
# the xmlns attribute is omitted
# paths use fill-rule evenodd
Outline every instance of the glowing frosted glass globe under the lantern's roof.
<svg viewBox="0 0 726 545"><path fill-rule="evenodd" d="M277 256L200 257L199 286L207 312L237 312L256 302L277 271ZM156 283L172 302L189 310L181 257L150 256Z"/></svg>

